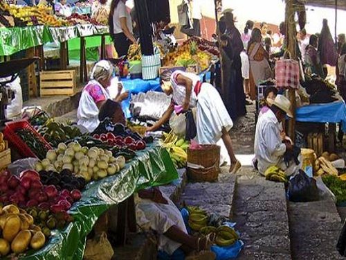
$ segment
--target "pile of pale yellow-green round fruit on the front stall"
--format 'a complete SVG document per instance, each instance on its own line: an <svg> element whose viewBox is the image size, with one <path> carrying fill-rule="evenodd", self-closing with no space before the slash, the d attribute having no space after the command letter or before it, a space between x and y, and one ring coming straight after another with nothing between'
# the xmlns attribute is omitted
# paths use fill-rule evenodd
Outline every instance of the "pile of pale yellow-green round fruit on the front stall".
<svg viewBox="0 0 346 260"><path fill-rule="evenodd" d="M46 158L37 162L37 171L57 171L67 169L86 182L99 180L118 173L125 167L125 157L113 157L113 153L102 148L82 147L76 142L67 146L60 143L55 150L48 150Z"/></svg>

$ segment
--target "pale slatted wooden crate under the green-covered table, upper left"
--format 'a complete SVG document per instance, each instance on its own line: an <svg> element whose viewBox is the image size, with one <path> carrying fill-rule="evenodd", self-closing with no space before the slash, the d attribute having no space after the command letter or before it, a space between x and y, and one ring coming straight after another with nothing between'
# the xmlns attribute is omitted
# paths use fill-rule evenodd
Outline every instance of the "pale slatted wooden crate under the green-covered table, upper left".
<svg viewBox="0 0 346 260"><path fill-rule="evenodd" d="M39 73L40 96L73 96L76 92L75 70Z"/></svg>

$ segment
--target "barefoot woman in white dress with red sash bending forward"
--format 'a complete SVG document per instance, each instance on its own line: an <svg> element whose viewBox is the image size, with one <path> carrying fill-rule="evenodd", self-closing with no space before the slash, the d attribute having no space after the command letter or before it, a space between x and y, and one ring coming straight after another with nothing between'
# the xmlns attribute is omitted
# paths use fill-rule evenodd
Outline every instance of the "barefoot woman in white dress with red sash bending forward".
<svg viewBox="0 0 346 260"><path fill-rule="evenodd" d="M197 141L199 144L216 144L221 138L230 157L230 172L236 173L241 167L233 152L229 131L233 127L224 102L217 89L209 83L201 83L199 76L183 71L163 71L161 87L168 96L172 95L172 103L148 131L158 129L170 120L174 106L179 105L183 111L197 107Z"/></svg>

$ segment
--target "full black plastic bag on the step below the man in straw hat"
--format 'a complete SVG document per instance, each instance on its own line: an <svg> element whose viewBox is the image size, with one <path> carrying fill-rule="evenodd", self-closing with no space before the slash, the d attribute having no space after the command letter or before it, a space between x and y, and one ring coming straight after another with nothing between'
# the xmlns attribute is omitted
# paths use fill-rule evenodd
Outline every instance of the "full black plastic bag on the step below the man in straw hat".
<svg viewBox="0 0 346 260"><path fill-rule="evenodd" d="M289 200L293 202L316 201L319 199L316 180L309 177L307 173L299 170L291 180L289 180Z"/></svg>

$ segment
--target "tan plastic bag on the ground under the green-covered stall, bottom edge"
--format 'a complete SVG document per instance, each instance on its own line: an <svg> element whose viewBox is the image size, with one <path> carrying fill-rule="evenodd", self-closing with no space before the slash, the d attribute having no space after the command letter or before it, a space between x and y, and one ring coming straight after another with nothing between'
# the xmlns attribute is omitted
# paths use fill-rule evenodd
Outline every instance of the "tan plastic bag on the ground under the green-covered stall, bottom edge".
<svg viewBox="0 0 346 260"><path fill-rule="evenodd" d="M100 239L89 239L86 241L84 257L85 260L110 260L114 251L107 239L107 234L102 232Z"/></svg>

